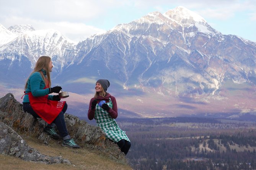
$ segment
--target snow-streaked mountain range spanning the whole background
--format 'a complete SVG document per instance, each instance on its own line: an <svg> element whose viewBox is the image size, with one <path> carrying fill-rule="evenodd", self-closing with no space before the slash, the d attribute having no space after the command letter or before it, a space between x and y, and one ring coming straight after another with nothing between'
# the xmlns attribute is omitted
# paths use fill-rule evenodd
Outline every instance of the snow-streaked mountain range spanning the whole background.
<svg viewBox="0 0 256 170"><path fill-rule="evenodd" d="M256 43L223 35L182 6L79 43L57 30L0 25L0 91L22 96L42 55L52 57L52 82L72 94L78 116L86 117L96 80L108 79L121 117L256 118Z"/></svg>

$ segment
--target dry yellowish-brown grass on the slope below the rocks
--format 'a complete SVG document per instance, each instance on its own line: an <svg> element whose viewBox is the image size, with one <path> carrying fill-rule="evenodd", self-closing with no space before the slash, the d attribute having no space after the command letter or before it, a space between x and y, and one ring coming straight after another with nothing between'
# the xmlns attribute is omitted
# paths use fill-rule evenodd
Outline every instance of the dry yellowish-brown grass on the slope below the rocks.
<svg viewBox="0 0 256 170"><path fill-rule="evenodd" d="M68 159L72 165L67 164L43 164L40 162L28 162L13 156L0 155L0 169L3 170L132 170L122 162L115 161L98 149L80 148L71 149L62 147L60 141L52 140L45 146L35 138L23 136L27 144L38 149L42 154L48 156L62 156Z"/></svg>

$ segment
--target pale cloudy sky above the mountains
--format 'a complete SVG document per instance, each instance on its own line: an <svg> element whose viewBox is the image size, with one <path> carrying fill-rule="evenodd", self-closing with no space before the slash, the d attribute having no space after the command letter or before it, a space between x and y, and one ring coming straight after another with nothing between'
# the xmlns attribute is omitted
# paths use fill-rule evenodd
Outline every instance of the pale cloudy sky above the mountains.
<svg viewBox="0 0 256 170"><path fill-rule="evenodd" d="M153 11L184 6L222 34L256 42L256 0L0 0L0 24L55 29L78 42Z"/></svg>

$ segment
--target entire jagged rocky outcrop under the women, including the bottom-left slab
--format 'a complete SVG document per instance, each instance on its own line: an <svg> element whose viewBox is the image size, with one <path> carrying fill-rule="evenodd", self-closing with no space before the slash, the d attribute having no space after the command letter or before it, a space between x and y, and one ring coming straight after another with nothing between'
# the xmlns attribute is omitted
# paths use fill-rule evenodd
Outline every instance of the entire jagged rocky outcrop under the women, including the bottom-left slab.
<svg viewBox="0 0 256 170"><path fill-rule="evenodd" d="M106 140L101 128L90 125L71 114L65 114L65 122L70 136L80 146L99 149L111 159L126 162L125 156L118 149L117 144ZM24 160L42 161L47 164L70 164L68 160L42 155L36 149L26 145L20 135L36 137L44 144L48 144L52 138L43 133L46 122L39 118L35 119L31 114L24 112L22 104L11 93L0 99L0 123L0 154L8 154Z"/></svg>

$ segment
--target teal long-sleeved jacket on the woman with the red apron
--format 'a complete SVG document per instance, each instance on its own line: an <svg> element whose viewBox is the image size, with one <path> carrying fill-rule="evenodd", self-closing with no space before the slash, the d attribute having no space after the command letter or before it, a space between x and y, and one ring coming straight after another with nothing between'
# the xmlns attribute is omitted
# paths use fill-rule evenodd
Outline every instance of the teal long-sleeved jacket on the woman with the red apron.
<svg viewBox="0 0 256 170"><path fill-rule="evenodd" d="M46 71L41 70L44 76L46 77ZM45 87L44 80L40 72L34 72L28 78L28 86L25 93L31 92L34 97L45 96L50 94L49 88L43 89ZM48 96L49 100L53 100L53 95ZM29 103L28 95L24 95L23 103Z"/></svg>

